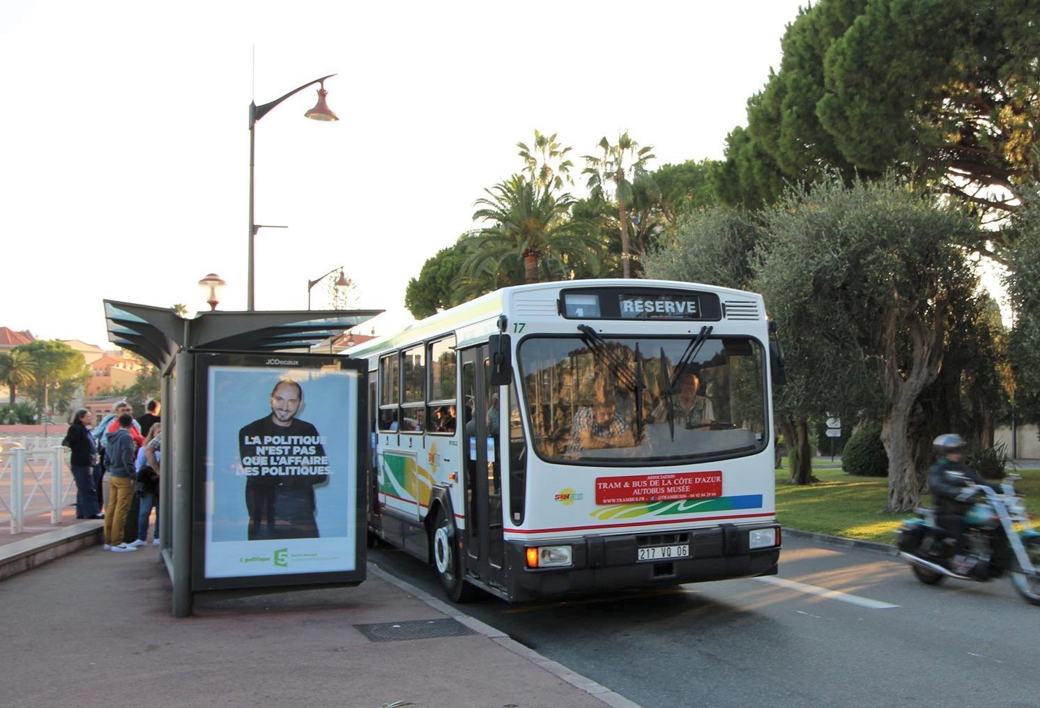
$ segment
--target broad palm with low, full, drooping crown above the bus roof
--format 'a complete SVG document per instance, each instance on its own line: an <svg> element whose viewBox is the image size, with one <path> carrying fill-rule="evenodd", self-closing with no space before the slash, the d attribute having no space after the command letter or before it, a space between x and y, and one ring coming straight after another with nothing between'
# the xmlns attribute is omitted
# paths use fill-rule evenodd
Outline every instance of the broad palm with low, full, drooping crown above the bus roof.
<svg viewBox="0 0 1040 708"><path fill-rule="evenodd" d="M522 263L525 283L538 283L540 268L550 278L563 279L566 263L579 258L588 246L587 236L568 218L574 198L569 193L556 196L548 185L523 175L513 175L485 191L488 196L474 203L483 206L473 219L491 226L466 239L469 256L463 272L472 280L499 280L510 270L517 273L516 266ZM499 282L496 287L515 284Z"/></svg>

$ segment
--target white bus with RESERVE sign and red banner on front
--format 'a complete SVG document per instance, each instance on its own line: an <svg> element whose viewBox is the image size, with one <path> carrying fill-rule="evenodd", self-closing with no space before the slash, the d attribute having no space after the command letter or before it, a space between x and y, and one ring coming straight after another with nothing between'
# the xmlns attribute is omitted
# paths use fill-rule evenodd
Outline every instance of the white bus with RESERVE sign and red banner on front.
<svg viewBox="0 0 1040 708"><path fill-rule="evenodd" d="M503 288L369 362L370 539L511 602L774 574L761 296L647 280Z"/></svg>

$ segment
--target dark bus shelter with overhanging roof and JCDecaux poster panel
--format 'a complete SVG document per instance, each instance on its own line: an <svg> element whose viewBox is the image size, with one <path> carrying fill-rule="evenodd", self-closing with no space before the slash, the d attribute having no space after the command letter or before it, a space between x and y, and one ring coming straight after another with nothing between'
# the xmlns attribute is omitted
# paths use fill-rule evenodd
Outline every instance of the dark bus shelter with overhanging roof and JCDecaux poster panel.
<svg viewBox="0 0 1040 708"><path fill-rule="evenodd" d="M200 592L363 581L367 370L332 344L383 311L104 308L109 341L162 374L174 617Z"/></svg>

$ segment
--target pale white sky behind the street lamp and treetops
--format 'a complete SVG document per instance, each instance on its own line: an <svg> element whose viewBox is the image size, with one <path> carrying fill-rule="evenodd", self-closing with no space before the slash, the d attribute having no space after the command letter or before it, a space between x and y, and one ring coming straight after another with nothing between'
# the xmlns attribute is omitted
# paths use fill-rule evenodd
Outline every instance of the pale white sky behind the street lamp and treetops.
<svg viewBox="0 0 1040 708"><path fill-rule="evenodd" d="M807 4L4 0L0 325L107 347L102 300L190 316L210 272L245 310L249 105L336 74L338 122L303 116L314 86L256 125L256 222L288 228L256 236L255 309L342 266L388 334L518 141L556 133L576 172L624 131L651 168L719 159Z"/></svg>

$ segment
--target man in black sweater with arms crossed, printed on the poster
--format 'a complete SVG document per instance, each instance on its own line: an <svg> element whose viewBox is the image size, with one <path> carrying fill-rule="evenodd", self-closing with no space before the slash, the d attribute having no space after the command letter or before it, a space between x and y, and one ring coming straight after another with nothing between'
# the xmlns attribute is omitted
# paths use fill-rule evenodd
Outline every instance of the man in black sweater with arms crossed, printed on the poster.
<svg viewBox="0 0 1040 708"><path fill-rule="evenodd" d="M314 486L329 478L329 457L314 425L296 418L303 403L300 384L280 381L270 415L238 432L250 541L319 537Z"/></svg>

